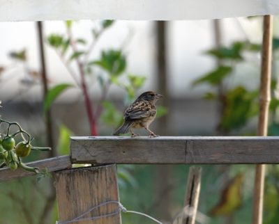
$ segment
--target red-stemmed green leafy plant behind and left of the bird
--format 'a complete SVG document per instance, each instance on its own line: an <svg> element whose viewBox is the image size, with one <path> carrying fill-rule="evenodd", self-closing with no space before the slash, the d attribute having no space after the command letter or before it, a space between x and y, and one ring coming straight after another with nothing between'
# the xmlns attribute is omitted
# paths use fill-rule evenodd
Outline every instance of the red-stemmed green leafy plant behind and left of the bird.
<svg viewBox="0 0 279 224"><path fill-rule="evenodd" d="M61 62L75 80L76 86L82 90L91 127L91 135L96 136L98 134L97 122L100 118L107 125L113 125L114 127L119 125L119 111L116 110L116 107L111 102L107 101L107 93L110 87L114 85L122 88L126 91L127 99L130 100L134 97L135 90L143 85L145 78L125 72L127 59L122 49L104 49L100 54L100 58L91 58L91 53L95 49L98 40L100 40L105 31L110 29L114 21L105 20L100 22L100 26L93 26L92 40L90 41L74 37L74 24L74 22L67 21L65 23L66 33L49 35L47 43L56 51ZM76 70L73 67L76 67ZM93 76L95 70L101 70L102 73L98 76ZM91 80L92 77L95 77L93 83L89 83L87 77L91 77ZM119 81L121 77L127 77L128 83ZM93 100L89 93L88 86L92 88L94 83L98 83L101 89L101 96L98 102ZM44 103L44 111L50 109L54 99L70 87L73 87L73 85L63 83L51 88Z"/></svg>

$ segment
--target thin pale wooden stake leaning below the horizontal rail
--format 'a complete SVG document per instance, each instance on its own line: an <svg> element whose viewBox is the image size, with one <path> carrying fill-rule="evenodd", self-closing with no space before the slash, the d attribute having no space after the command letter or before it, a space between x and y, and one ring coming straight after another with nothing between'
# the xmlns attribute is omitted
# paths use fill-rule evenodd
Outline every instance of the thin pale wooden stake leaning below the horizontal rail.
<svg viewBox="0 0 279 224"><path fill-rule="evenodd" d="M199 203L199 190L202 178L202 168L191 166L189 170L187 189L184 201L186 209L182 224L195 224L197 205Z"/></svg>

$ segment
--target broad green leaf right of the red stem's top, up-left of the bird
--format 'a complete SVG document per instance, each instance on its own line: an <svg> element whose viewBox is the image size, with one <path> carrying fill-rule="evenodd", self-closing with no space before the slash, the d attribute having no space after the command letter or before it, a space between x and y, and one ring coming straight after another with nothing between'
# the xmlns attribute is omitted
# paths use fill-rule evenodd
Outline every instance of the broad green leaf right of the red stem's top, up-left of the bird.
<svg viewBox="0 0 279 224"><path fill-rule="evenodd" d="M110 49L102 52L99 61L90 64L98 65L112 76L119 76L126 69L126 56L119 50Z"/></svg>

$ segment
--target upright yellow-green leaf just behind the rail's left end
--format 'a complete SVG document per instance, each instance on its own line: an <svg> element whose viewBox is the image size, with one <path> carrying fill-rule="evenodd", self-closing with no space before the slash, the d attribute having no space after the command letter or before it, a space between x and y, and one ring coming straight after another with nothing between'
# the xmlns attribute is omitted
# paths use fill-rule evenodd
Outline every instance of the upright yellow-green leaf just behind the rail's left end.
<svg viewBox="0 0 279 224"><path fill-rule="evenodd" d="M65 155L70 153L70 136L73 135L72 131L65 125L59 127L59 138L57 145L57 152L59 155Z"/></svg>

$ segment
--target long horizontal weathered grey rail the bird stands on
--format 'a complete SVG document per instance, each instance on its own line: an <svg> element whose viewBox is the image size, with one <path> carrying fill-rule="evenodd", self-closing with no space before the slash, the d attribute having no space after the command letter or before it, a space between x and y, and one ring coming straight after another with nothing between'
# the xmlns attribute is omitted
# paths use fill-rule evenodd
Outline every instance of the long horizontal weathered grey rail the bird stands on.
<svg viewBox="0 0 279 224"><path fill-rule="evenodd" d="M279 163L279 137L72 137L73 163Z"/></svg>

